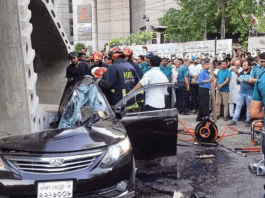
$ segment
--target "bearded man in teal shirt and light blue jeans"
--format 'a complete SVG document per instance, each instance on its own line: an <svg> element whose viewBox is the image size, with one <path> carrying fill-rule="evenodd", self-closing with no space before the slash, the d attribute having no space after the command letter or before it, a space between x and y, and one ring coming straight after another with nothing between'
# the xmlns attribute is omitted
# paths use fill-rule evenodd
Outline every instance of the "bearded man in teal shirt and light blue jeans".
<svg viewBox="0 0 265 198"><path fill-rule="evenodd" d="M246 112L246 127L250 126L249 117L249 106L253 94L253 85L249 83L251 72L251 63L248 61L243 62L243 71L239 74L240 91L237 97L236 110L232 119L232 122L228 126L236 125L241 113L242 106L246 102L247 112Z"/></svg>

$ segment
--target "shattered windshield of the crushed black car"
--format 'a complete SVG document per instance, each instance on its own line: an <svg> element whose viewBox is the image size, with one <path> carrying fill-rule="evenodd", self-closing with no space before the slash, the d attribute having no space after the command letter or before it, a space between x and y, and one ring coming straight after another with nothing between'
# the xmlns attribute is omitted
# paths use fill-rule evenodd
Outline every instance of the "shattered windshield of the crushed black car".
<svg viewBox="0 0 265 198"><path fill-rule="evenodd" d="M95 112L107 112L108 106L94 83L75 88L59 123L60 128L69 128L83 123Z"/></svg>

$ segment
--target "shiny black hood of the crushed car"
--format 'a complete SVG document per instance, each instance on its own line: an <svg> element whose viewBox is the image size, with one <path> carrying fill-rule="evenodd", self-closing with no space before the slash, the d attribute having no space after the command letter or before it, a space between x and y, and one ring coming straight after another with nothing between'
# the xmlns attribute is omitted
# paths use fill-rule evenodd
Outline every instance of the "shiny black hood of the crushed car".
<svg viewBox="0 0 265 198"><path fill-rule="evenodd" d="M6 137L0 148L35 153L74 152L114 144L126 136L121 123L101 120L92 127L46 130L34 134Z"/></svg>

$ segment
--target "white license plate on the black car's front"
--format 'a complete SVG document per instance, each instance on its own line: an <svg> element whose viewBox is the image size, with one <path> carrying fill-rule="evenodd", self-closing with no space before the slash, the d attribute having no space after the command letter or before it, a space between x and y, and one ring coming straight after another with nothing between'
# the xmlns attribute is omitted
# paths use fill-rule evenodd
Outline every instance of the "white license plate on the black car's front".
<svg viewBox="0 0 265 198"><path fill-rule="evenodd" d="M38 198L73 197L73 181L39 182Z"/></svg>

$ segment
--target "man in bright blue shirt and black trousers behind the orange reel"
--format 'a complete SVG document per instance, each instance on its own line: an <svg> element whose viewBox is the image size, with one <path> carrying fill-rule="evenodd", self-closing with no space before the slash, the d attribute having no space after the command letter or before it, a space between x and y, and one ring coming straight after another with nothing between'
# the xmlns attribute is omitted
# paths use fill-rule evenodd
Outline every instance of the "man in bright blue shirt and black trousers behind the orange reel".
<svg viewBox="0 0 265 198"><path fill-rule="evenodd" d="M210 64L208 60L202 62L203 69L198 75L199 82L199 109L198 109L198 117L196 121L204 121L210 120L210 89L211 82L213 82L213 78L210 78L209 69Z"/></svg>

